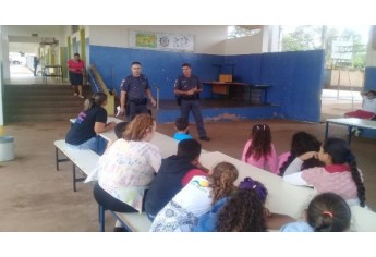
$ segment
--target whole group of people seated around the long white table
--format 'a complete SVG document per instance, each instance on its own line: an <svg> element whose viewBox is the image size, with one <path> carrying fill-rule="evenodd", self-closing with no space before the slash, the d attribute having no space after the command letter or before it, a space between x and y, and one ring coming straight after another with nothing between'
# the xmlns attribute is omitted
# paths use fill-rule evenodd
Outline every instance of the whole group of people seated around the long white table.
<svg viewBox="0 0 376 257"><path fill-rule="evenodd" d="M96 94L89 103L66 138L74 138L92 125L94 134L114 127L119 139L109 144L85 182L95 181L94 197L105 209L146 211L153 221L150 231L347 231L349 206L365 206L361 171L342 139L327 138L320 144L313 135L298 132L290 151L278 159L270 127L253 126L242 160L281 175L288 183L313 186L318 193L303 220L295 221L265 207L268 191L262 183L245 178L236 186L239 172L232 163L204 168L199 163L201 144L189 135L186 120L175 122L174 138L180 140L177 154L162 159L159 148L150 143L156 132L151 115L144 113L130 123L106 124L105 96ZM114 231L122 231L120 227L117 223Z"/></svg>

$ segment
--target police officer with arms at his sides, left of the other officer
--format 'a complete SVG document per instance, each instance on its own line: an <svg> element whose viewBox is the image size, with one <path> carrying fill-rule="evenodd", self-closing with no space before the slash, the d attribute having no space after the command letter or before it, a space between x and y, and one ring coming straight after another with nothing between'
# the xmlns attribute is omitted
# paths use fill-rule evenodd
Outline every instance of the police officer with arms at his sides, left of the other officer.
<svg viewBox="0 0 376 257"><path fill-rule="evenodd" d="M121 82L120 113L129 113L129 120L132 121L140 113L147 113L147 97L151 105L156 106L149 82L144 74L141 74L141 63L132 62L132 75L129 75ZM125 109L128 109L125 111Z"/></svg>

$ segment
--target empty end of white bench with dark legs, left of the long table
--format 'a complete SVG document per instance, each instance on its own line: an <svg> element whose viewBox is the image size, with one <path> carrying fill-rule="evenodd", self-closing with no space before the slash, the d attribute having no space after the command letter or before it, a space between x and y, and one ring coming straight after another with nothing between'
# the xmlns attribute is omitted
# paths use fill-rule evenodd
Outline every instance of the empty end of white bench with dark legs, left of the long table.
<svg viewBox="0 0 376 257"><path fill-rule="evenodd" d="M60 162L72 161L73 163L73 191L76 192L76 182L84 181L86 176L92 173L99 159L99 156L93 150L73 149L69 147L64 139L56 140L54 147L57 171L59 171ZM66 158L59 158L59 151L62 152ZM77 176L77 171L81 171L83 176Z"/></svg>

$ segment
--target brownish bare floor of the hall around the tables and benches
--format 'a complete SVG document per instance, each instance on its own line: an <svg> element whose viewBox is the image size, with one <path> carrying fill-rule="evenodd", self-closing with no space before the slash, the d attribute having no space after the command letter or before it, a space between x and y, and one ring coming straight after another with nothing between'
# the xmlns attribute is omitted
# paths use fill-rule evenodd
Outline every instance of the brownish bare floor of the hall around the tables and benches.
<svg viewBox="0 0 376 257"><path fill-rule="evenodd" d="M345 107L347 108L347 107ZM206 122L210 142L201 142L209 151L222 151L240 158L251 127L268 123L277 154L289 149L291 136L305 131L324 138L325 124L287 120ZM13 123L4 126L4 135L14 136L15 159L0 162L0 231L88 231L99 230L98 206L92 185L72 186L72 163L60 163L56 171L53 142L65 137L70 122ZM157 131L173 135L172 124L158 124ZM191 124L191 134L197 131ZM330 126L329 136L347 139L344 126ZM351 147L363 171L366 204L376 210L376 139L353 137ZM112 231L114 219L106 213L106 231Z"/></svg>

